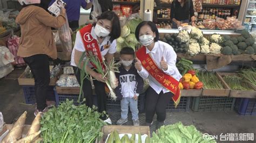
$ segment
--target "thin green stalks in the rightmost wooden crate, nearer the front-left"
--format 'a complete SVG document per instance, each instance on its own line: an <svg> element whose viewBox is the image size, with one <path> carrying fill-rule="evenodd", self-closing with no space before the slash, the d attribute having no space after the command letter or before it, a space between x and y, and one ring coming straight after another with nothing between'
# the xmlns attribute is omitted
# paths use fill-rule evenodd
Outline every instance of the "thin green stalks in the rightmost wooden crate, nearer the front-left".
<svg viewBox="0 0 256 143"><path fill-rule="evenodd" d="M238 75L226 75L224 81L232 90L252 90L246 82L242 81L242 77Z"/></svg>

